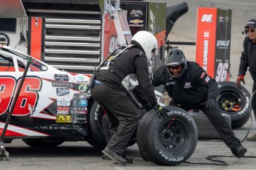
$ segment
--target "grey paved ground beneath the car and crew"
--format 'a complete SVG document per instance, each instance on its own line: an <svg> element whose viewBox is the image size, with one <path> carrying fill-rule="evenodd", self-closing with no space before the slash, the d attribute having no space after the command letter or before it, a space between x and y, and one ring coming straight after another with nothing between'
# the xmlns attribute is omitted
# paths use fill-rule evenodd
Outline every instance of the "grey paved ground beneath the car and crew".
<svg viewBox="0 0 256 170"><path fill-rule="evenodd" d="M255 132L255 120L252 122L252 135ZM236 136L243 140L248 132L249 123L240 129L234 130ZM5 144L5 148L10 152L10 161L0 161L0 169L4 170L41 170L41 169L88 169L88 170L111 170L111 169L255 169L256 167L256 142L244 141L248 152L245 158L217 157L229 163L229 166L209 165L209 164L189 164L181 163L178 166L157 166L154 163L142 160L138 152L137 145L128 149L128 155L134 157L134 164L128 166L116 166L110 160L101 160L101 151L94 149L86 142L65 142L54 149L33 149L22 142L13 140L13 143ZM188 159L197 163L214 163L206 160L206 156L212 155L232 155L223 141L209 140L198 141L194 154Z"/></svg>

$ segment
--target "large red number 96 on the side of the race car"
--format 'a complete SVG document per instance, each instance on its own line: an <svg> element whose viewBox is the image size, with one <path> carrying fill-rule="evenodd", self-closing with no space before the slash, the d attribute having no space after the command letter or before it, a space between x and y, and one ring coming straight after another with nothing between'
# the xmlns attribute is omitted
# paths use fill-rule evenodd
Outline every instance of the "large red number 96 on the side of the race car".
<svg viewBox="0 0 256 170"><path fill-rule="evenodd" d="M13 77L0 77L0 115L8 112L13 101L14 95L21 82L21 78L16 80ZM19 97L16 101L16 106L13 109L13 115L28 115L30 110L28 104L31 107L36 107L41 90L42 81L37 77L27 77L24 79L24 83L19 93Z"/></svg>

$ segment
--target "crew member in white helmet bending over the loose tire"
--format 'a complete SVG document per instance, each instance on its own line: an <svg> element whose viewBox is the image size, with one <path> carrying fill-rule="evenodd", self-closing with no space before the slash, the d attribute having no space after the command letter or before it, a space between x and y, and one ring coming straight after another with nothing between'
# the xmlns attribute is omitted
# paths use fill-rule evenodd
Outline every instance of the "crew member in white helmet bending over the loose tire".
<svg viewBox="0 0 256 170"><path fill-rule="evenodd" d="M154 86L149 78L148 60L156 50L157 39L154 35L139 31L131 39L131 44L115 50L94 74L96 79L91 95L105 110L114 132L102 153L122 166L127 161L121 155L142 116L140 108L123 88L122 80L127 75L136 74L138 84L151 106L159 115L168 115L168 111L157 104Z"/></svg>

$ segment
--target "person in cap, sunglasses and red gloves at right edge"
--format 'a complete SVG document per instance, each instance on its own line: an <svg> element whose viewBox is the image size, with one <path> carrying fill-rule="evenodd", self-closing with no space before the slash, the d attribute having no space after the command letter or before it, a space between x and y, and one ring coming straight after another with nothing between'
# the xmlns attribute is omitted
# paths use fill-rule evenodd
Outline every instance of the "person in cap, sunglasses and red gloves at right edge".
<svg viewBox="0 0 256 170"><path fill-rule="evenodd" d="M256 20L251 19L247 21L246 26L244 27L244 32L246 33L246 38L243 40L243 51L240 57L239 72L237 75L237 86L240 88L240 82L246 84L244 76L249 67L249 72L252 76L253 85L252 93L256 90ZM256 102L252 102L252 109L255 114L256 119ZM246 140L256 141L256 134L251 137L247 137Z"/></svg>

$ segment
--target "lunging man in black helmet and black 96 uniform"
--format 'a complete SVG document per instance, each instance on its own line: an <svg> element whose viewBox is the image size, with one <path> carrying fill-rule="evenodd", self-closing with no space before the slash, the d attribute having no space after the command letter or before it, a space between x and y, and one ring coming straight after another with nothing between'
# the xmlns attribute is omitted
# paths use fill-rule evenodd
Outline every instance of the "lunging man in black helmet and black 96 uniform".
<svg viewBox="0 0 256 170"><path fill-rule="evenodd" d="M165 65L151 73L153 86L163 84L171 97L170 106L179 106L188 111L200 109L211 121L226 146L238 158L244 157L247 149L234 132L217 107L217 83L199 64L187 61L181 50L168 53Z"/></svg>

